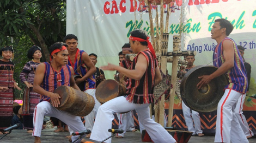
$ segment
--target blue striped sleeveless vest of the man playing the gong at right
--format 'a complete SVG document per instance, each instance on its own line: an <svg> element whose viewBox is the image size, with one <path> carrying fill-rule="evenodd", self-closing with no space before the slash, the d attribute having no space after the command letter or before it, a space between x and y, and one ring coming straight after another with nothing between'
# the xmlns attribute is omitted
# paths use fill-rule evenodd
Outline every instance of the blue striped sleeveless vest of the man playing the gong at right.
<svg viewBox="0 0 256 143"><path fill-rule="evenodd" d="M225 86L225 89L233 89L236 92L245 94L247 90L247 74L246 74L245 66L243 65L242 56L240 55L234 40L226 37L215 48L215 52L213 55L214 66L219 68L225 62L225 59L223 56L223 47L222 47L222 44L225 40L229 40L233 42L233 47L235 52L234 67L229 69L228 72L226 73L228 75L229 84Z"/></svg>

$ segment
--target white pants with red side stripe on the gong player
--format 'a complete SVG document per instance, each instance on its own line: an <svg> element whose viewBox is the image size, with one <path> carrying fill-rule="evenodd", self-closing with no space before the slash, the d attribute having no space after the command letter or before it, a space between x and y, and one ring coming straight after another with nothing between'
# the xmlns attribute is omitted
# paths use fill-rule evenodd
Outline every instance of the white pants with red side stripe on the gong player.
<svg viewBox="0 0 256 143"><path fill-rule="evenodd" d="M242 94L235 90L225 89L218 102L216 133L214 142L247 143L249 142L242 131L235 115L237 100Z"/></svg>

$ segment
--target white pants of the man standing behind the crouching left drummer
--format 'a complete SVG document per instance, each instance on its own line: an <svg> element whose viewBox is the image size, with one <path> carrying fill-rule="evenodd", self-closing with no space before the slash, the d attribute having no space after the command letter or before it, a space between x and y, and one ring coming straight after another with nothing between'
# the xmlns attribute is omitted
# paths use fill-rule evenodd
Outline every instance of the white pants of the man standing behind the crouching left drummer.
<svg viewBox="0 0 256 143"><path fill-rule="evenodd" d="M95 105L94 105L93 111L90 112L90 114L88 114L87 116L84 116L84 120L86 120L86 129L90 129L90 131L92 131L93 124L94 124L94 118L97 115L97 111L100 107L100 102L97 101L96 96L95 96L96 89L87 89L84 92L92 95L95 100Z"/></svg>

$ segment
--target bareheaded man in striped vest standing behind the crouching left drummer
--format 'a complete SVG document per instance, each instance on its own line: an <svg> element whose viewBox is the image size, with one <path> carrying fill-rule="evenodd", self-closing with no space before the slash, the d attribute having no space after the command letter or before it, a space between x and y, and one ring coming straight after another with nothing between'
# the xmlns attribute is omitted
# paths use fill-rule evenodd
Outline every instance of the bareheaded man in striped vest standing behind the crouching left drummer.
<svg viewBox="0 0 256 143"><path fill-rule="evenodd" d="M96 67L92 60L90 60L89 55L85 51L77 48L77 41L78 38L73 34L68 34L64 37L64 42L69 46L67 48L69 51L69 60L67 64L74 69L75 75L80 75L82 77L81 79L76 79L76 84L78 85L79 83L84 82L85 84L82 91L94 97L94 109L89 115L84 117L86 120L86 128L92 131L94 117L96 116L97 109L100 106L100 102L98 102L95 97L96 81L93 74L96 72ZM86 137L89 138L90 134Z"/></svg>

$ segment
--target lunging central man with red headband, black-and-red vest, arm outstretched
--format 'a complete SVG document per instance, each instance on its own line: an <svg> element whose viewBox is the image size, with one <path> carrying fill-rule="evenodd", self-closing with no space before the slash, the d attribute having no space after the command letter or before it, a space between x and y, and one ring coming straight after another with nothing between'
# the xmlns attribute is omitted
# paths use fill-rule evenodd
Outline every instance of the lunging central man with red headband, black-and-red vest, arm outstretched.
<svg viewBox="0 0 256 143"><path fill-rule="evenodd" d="M109 100L100 106L90 139L101 141L111 135L108 129L112 127L113 112L123 113L135 109L139 121L154 142L174 143L176 141L172 135L150 118L149 104L154 102L154 87L162 80L154 49L144 30L136 29L130 34L131 49L137 54L131 68L126 69L110 63L101 67L106 70L118 70L129 78L126 95ZM105 142L110 143L111 139Z"/></svg>

